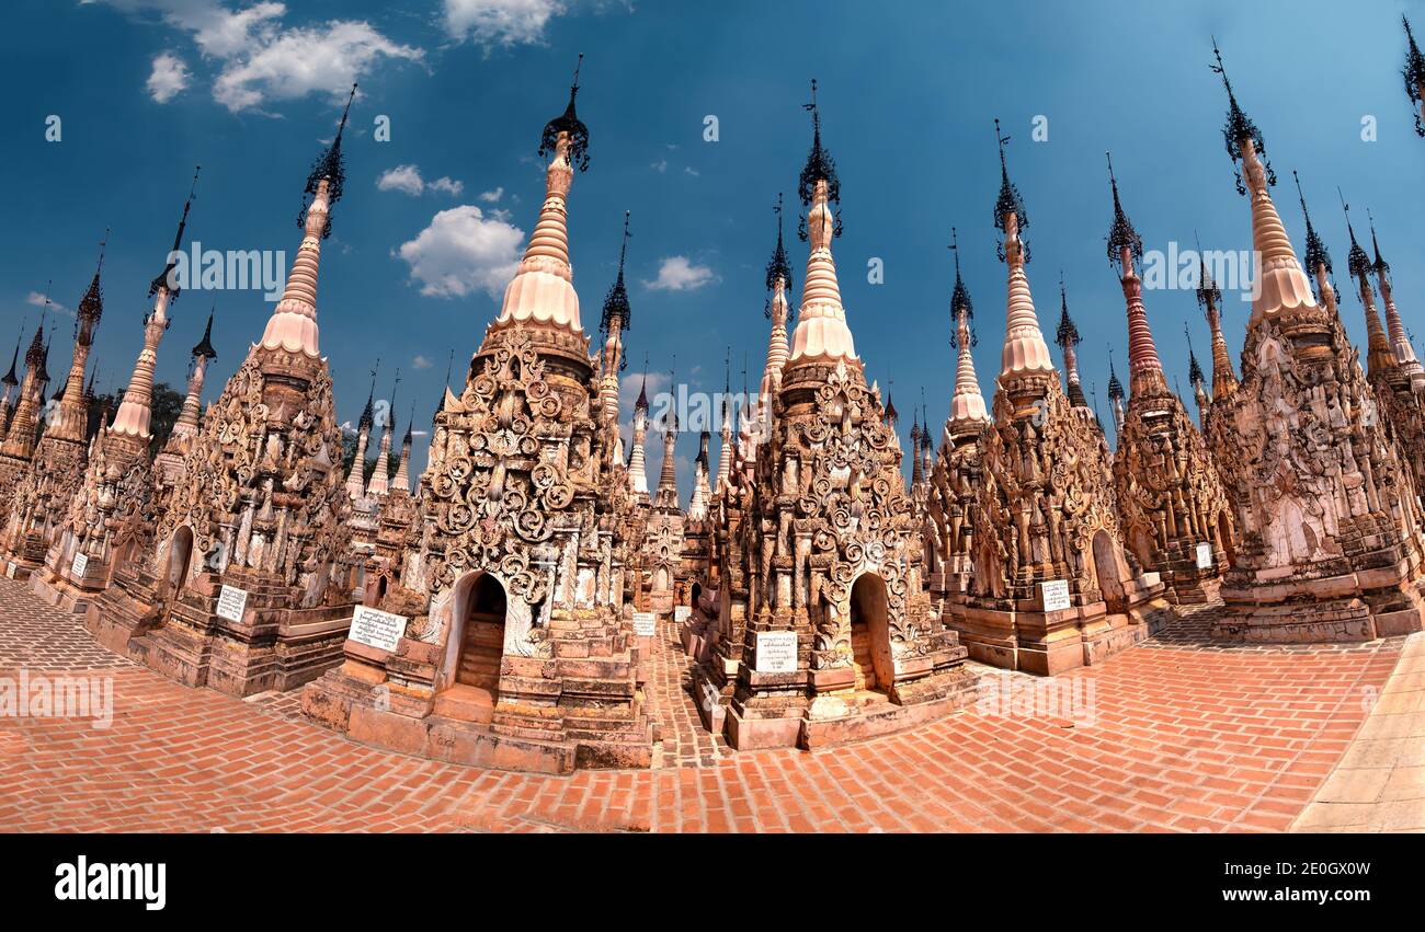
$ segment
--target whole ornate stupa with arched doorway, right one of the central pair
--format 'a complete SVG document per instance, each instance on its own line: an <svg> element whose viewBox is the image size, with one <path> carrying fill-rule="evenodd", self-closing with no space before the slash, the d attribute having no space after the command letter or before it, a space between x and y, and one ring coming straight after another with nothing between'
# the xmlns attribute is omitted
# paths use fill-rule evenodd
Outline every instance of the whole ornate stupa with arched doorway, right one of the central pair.
<svg viewBox="0 0 1425 932"><path fill-rule="evenodd" d="M798 186L811 246L801 313L731 542L748 589L725 717L738 748L868 737L943 714L973 692L965 649L931 613L901 445L846 326L831 252L841 184L815 90ZM730 582L724 599L737 598L740 581Z"/></svg>

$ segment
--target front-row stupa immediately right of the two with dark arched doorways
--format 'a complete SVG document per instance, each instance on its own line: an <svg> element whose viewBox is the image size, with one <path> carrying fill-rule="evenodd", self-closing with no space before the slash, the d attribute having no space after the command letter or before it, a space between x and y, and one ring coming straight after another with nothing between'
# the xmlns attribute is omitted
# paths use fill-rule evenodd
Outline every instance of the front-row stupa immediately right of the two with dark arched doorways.
<svg viewBox="0 0 1425 932"><path fill-rule="evenodd" d="M995 226L1009 268L1005 346L995 423L978 441L969 592L946 606L972 657L1049 674L1143 640L1171 609L1157 573L1140 575L1124 556L1107 443L1054 371L1025 275L1029 218L1009 181L998 121L996 139Z"/></svg>

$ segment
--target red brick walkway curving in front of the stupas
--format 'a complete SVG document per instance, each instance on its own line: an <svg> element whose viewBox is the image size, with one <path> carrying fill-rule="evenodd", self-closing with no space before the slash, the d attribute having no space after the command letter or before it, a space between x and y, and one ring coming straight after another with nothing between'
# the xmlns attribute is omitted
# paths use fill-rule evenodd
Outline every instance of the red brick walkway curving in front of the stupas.
<svg viewBox="0 0 1425 932"><path fill-rule="evenodd" d="M989 701L992 674L975 710L819 753L734 753L698 733L670 630L650 684L664 766L542 777L353 744L302 721L291 696L184 689L115 660L77 619L0 581L0 676L90 670L113 677L114 696L108 729L0 719L0 828L1282 830L1345 750L1401 640L1234 649L1200 630L1184 625L1053 680L1077 684L1073 709L1015 714L1017 701ZM1047 683L1007 682L1017 697Z"/></svg>

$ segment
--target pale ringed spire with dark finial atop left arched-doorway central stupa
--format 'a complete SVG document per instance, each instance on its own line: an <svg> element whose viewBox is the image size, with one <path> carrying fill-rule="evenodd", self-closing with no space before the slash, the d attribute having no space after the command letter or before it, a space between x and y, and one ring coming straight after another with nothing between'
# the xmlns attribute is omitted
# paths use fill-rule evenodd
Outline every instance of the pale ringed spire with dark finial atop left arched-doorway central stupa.
<svg viewBox="0 0 1425 932"><path fill-rule="evenodd" d="M523 326L571 334L584 332L579 320L579 295L574 292L574 269L569 258L569 189L574 181L574 166L579 171L589 169L589 128L574 112L583 61L584 55L580 54L569 88L569 107L544 124L539 147L540 158L550 158L544 171L544 203L524 256L504 289L504 300L490 332Z"/></svg>

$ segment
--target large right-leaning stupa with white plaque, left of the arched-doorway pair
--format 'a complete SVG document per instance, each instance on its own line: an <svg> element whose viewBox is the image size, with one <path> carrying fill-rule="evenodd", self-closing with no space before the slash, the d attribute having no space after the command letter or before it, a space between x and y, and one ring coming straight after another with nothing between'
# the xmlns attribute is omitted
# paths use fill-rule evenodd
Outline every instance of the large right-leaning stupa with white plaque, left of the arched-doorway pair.
<svg viewBox="0 0 1425 932"><path fill-rule="evenodd" d="M349 112L351 100L306 179L302 242L282 299L202 418L157 522L154 556L115 568L86 615L100 643L188 686L237 696L292 689L341 660L352 620L349 593L333 581L349 546L349 501L316 326L321 245L345 186ZM135 388L151 378L148 356L125 404L145 394ZM147 438L147 407L134 401L131 414L115 415L110 440Z"/></svg>

